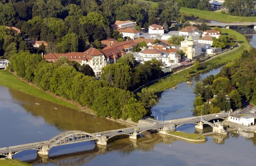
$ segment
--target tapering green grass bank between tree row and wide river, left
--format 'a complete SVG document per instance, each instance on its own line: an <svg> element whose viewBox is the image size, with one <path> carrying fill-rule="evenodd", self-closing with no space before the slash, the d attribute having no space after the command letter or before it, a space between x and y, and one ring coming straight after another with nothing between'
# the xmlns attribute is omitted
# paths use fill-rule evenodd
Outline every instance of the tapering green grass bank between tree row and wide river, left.
<svg viewBox="0 0 256 166"><path fill-rule="evenodd" d="M51 94L45 93L40 89L37 89L33 86L30 86L29 84L26 84L25 82L20 81L16 76L12 75L7 70L0 70L0 78L1 78L0 84L3 86L9 87L15 90L20 90L21 92L78 110L78 108L75 105L70 104L67 101L63 101L59 98L56 98Z"/></svg>

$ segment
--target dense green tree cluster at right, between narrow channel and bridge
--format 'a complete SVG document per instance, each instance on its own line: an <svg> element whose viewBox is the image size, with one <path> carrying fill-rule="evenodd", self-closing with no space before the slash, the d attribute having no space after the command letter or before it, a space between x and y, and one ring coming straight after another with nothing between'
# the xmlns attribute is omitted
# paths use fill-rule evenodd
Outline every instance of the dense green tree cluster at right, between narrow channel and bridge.
<svg viewBox="0 0 256 166"><path fill-rule="evenodd" d="M196 82L193 93L199 115L240 109L242 99L256 104L256 48L243 51L240 59L225 65L217 75Z"/></svg>

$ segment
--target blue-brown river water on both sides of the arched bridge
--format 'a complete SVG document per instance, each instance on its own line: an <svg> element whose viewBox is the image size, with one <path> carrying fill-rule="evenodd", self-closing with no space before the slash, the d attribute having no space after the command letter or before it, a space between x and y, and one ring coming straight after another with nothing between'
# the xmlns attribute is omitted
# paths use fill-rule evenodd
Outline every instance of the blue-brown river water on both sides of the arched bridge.
<svg viewBox="0 0 256 166"><path fill-rule="evenodd" d="M253 45L255 41L253 36L250 43ZM194 83L218 73L220 69L200 74L191 82L177 84L163 92L157 105L152 108L157 112L155 116L163 120L193 116ZM99 132L125 127L1 85L0 105L0 147L46 141L66 130ZM183 125L177 130L192 133L195 132L194 126ZM160 134L145 133L141 136L137 140L120 136L122 139L109 140L106 147L97 146L93 141L57 146L50 149L49 158L41 158L35 150L17 153L13 158L34 166L252 166L256 161L255 133L233 132L226 136L208 136L205 143L187 143Z"/></svg>

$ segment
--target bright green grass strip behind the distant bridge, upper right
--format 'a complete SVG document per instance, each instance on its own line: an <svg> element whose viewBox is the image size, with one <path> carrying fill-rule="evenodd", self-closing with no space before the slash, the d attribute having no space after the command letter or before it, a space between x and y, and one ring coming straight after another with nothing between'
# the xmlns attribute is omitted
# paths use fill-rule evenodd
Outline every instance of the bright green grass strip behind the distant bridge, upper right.
<svg viewBox="0 0 256 166"><path fill-rule="evenodd" d="M256 17L230 16L227 14L221 14L213 11L202 11L202 10L197 10L192 8L183 8L183 7L180 8L180 14L184 14L186 16L199 17L205 20L214 20L214 21L224 22L224 23L229 23L229 22L245 23L245 22L256 21Z"/></svg>

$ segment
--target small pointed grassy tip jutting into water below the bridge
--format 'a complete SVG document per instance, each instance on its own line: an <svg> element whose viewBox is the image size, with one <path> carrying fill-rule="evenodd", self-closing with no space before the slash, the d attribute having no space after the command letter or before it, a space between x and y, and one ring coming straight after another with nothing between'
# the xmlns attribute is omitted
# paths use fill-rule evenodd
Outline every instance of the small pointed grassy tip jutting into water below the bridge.
<svg viewBox="0 0 256 166"><path fill-rule="evenodd" d="M204 135L196 133L185 133L180 131L168 132L167 135L178 138L182 141L188 141L189 143L200 143L207 141Z"/></svg>

